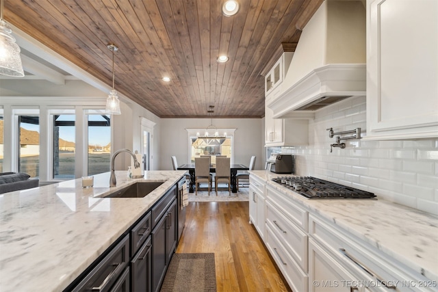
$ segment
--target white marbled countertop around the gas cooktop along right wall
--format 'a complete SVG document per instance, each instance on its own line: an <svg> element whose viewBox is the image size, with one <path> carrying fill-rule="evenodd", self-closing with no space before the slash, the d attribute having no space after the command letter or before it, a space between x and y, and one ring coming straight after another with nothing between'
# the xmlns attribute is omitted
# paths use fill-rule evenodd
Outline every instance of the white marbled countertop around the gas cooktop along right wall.
<svg viewBox="0 0 438 292"><path fill-rule="evenodd" d="M438 281L438 217L382 200L308 200L275 183L266 170L250 174L302 206L348 230L407 267Z"/></svg>

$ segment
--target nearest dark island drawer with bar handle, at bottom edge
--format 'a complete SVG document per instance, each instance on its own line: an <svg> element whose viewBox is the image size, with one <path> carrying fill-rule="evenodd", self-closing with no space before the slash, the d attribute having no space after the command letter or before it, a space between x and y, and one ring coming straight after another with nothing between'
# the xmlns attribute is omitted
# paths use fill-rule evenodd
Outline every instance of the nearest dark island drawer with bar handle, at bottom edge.
<svg viewBox="0 0 438 292"><path fill-rule="evenodd" d="M129 235L125 235L72 291L110 291L128 264Z"/></svg>

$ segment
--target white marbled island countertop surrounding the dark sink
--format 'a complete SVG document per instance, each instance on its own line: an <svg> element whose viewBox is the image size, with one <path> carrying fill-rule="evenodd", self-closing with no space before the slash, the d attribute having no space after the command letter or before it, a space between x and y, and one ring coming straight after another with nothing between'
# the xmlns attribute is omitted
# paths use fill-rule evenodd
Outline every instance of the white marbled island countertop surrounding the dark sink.
<svg viewBox="0 0 438 292"><path fill-rule="evenodd" d="M146 171L128 179L116 172L0 195L0 287L62 291L150 209L185 171ZM144 198L102 198L137 181L163 181Z"/></svg>

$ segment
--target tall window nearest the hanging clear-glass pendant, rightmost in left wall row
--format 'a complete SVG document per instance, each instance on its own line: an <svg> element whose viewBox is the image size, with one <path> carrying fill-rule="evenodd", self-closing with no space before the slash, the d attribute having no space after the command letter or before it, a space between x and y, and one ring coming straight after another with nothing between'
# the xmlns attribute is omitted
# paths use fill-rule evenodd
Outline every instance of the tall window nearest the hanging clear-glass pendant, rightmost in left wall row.
<svg viewBox="0 0 438 292"><path fill-rule="evenodd" d="M88 175L109 172L111 168L110 115L88 110Z"/></svg>

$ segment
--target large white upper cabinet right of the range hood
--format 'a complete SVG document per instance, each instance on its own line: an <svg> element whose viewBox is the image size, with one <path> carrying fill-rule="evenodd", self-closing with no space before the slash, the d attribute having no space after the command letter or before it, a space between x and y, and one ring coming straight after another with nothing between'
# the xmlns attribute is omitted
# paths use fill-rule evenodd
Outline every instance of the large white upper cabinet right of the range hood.
<svg viewBox="0 0 438 292"><path fill-rule="evenodd" d="M367 0L366 140L438 137L438 1Z"/></svg>

